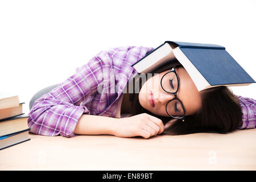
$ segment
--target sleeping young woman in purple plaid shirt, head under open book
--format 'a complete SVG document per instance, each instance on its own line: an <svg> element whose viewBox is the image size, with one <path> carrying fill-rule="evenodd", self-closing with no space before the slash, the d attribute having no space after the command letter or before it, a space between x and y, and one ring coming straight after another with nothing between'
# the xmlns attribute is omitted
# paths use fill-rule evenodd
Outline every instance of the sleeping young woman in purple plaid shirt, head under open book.
<svg viewBox="0 0 256 182"><path fill-rule="evenodd" d="M255 100L226 86L199 92L177 61L154 74L137 73L131 65L152 49L125 46L98 53L35 101L28 114L31 132L150 138L255 127Z"/></svg>

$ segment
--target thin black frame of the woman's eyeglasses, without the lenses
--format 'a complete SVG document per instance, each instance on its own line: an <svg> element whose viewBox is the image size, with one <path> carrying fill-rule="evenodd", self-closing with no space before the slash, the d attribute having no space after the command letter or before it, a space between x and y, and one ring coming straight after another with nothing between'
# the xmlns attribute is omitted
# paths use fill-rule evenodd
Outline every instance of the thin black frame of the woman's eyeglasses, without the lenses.
<svg viewBox="0 0 256 182"><path fill-rule="evenodd" d="M166 76L168 73L171 73L171 72L174 72L174 73L175 73L175 76L176 76L176 78L177 78L177 90L176 90L176 92L168 92L168 91L164 90L163 85L162 85L163 77ZM179 100L179 98L177 98L177 92L178 92L178 90L179 90L179 84L180 84L180 82L179 82L179 78L177 77L177 73L176 73L176 71L175 71L175 67L172 68L171 71L165 73L165 74L163 75L163 77L161 78L161 81L160 81L160 85L161 85L162 89L163 89L164 92L166 92L166 93L174 94L174 98L173 98L172 100L168 101L167 104L166 104L166 113L167 113L170 117L172 117L172 118L175 118L175 119L182 119L182 121L185 121L185 108L184 108L182 102ZM183 111L184 111L183 117L181 117L181 118L174 117L174 116L170 115L170 114L168 113L168 111L167 111L167 105L168 105L171 101L174 101L174 100L178 100L178 101L180 102L181 107L182 107L182 109L183 109Z"/></svg>

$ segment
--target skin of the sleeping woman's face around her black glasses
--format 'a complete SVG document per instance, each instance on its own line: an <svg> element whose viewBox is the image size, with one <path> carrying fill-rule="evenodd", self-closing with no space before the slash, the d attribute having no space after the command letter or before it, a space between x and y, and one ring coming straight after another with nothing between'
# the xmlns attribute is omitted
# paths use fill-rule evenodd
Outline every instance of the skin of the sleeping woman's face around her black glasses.
<svg viewBox="0 0 256 182"><path fill-rule="evenodd" d="M166 117L168 117L168 114L166 113L166 104L174 98L174 94L165 92L160 85L160 80L163 75L169 71L170 70L164 71L149 78L144 82L139 92L139 103L144 109L153 114ZM179 98L185 108L185 115L195 114L201 109L200 92L198 92L196 85L183 67L176 68L175 71L179 80L177 98ZM162 82L162 84L164 88L165 86L170 86L168 85L170 84L168 81ZM174 113L169 114L172 115Z"/></svg>

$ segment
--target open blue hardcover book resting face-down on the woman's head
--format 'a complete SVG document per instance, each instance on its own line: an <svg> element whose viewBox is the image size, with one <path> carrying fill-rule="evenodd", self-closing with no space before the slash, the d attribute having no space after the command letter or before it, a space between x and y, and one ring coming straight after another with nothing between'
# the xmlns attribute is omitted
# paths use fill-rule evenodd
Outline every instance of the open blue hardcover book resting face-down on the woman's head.
<svg viewBox="0 0 256 182"><path fill-rule="evenodd" d="M154 69L175 61L183 65L199 91L255 83L225 47L215 44L166 41L132 66L138 73L154 73Z"/></svg>

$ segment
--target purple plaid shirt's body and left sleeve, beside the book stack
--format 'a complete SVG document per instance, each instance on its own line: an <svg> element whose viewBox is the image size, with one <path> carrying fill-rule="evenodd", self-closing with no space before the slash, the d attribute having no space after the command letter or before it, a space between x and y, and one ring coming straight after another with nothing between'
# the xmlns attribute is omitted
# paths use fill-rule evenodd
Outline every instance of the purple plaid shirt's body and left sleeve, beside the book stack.
<svg viewBox="0 0 256 182"><path fill-rule="evenodd" d="M101 51L51 92L35 101L28 114L30 132L73 137L82 114L114 117L132 64L154 48L125 46ZM100 92L99 92L100 91Z"/></svg>

